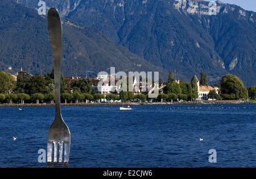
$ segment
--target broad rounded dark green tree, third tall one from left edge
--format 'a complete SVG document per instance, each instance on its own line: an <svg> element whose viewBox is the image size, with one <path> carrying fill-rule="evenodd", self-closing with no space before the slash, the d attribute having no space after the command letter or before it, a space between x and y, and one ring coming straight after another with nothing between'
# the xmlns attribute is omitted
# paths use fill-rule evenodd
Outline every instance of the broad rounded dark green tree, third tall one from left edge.
<svg viewBox="0 0 256 179"><path fill-rule="evenodd" d="M35 75L31 77L30 83L28 85L28 94L35 93L46 93L47 90L47 81L43 76Z"/></svg>

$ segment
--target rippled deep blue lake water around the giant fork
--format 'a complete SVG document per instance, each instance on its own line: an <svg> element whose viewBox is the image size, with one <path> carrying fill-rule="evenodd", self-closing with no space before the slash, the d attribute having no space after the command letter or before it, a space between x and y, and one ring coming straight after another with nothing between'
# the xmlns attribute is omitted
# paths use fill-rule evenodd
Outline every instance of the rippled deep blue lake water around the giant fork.
<svg viewBox="0 0 256 179"><path fill-rule="evenodd" d="M255 104L131 107L62 107L69 167L256 167ZM46 167L38 150L47 148L55 109L22 109L0 108L0 167ZM217 163L209 163L209 149Z"/></svg>

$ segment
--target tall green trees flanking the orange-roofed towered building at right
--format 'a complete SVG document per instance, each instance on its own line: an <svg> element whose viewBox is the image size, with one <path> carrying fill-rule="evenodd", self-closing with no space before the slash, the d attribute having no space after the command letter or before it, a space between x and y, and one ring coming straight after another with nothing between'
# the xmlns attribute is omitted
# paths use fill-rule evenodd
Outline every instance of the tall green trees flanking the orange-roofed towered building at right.
<svg viewBox="0 0 256 179"><path fill-rule="evenodd" d="M208 86L207 74L200 73L200 85ZM208 98L210 99L256 99L256 88L251 86L245 88L242 80L232 74L226 74L221 80L214 85L220 89L220 94L217 94L215 90L210 90ZM163 93L159 94L159 101L176 101L182 99L184 101L192 101L199 97L199 91L197 87L196 76L193 76L191 82L180 81L177 83L174 79L174 73L169 72L169 77L166 82L166 87Z"/></svg>

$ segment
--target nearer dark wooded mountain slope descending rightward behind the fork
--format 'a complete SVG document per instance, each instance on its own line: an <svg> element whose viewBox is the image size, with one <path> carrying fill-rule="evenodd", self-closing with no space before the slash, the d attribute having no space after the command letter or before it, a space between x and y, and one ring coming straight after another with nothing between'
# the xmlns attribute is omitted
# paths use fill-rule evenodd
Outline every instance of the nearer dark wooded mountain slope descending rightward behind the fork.
<svg viewBox="0 0 256 179"><path fill-rule="evenodd" d="M22 66L32 74L52 69L47 19L34 9L14 1L0 2L0 70ZM114 43L92 27L84 27L63 19L63 61L65 76L96 76L98 72L115 70L160 71L167 73L142 57Z"/></svg>

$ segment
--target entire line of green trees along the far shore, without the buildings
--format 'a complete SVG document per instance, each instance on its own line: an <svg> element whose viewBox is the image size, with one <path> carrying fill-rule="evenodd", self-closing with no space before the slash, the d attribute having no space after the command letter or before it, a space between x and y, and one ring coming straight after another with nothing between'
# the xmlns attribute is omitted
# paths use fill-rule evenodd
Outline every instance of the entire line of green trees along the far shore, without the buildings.
<svg viewBox="0 0 256 179"><path fill-rule="evenodd" d="M193 101L199 96L197 78L193 76L191 82L180 81L177 83L174 73L169 73L168 80L164 83L163 93L157 98L150 99L146 93L134 94L129 91L117 91L110 94L96 93L92 89L92 81L89 78L81 78L67 86L61 74L61 101L63 103L80 103L106 99L110 102L115 100L126 101ZM208 79L205 73L201 73L200 85L207 86ZM245 88L243 82L237 76L226 74L216 84L220 88L220 94L212 90L208 94L211 99L256 99L256 88ZM10 73L0 71L0 103L53 103L54 102L54 73L46 73L44 76L36 74L31 76L27 72L19 72L17 80Z"/></svg>

